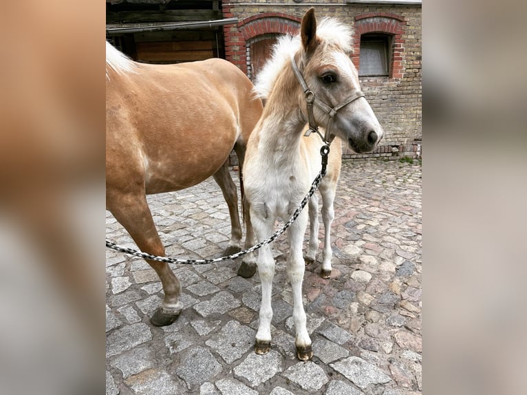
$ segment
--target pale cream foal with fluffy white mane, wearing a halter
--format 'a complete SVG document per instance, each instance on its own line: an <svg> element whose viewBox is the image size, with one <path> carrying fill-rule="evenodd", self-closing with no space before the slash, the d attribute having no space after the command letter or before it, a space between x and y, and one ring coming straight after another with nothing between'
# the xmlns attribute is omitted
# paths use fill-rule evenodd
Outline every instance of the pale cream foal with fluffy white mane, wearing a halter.
<svg viewBox="0 0 527 395"><path fill-rule="evenodd" d="M271 235L277 217L288 220L321 169L319 151L323 142L314 134L303 137L308 120L325 127L325 140L341 138L358 153L372 151L383 137L383 129L360 92L358 73L347 54L351 36L346 25L332 19L324 19L317 26L311 9L302 19L300 36L282 37L259 74L255 89L267 102L249 138L244 163L246 206L259 240ZM306 104L308 100L314 105ZM331 150L328 173L320 186L326 236L323 277L328 277L331 270L329 235L340 150L339 146ZM310 207L310 217L315 222L310 235L310 259L314 259L318 244L316 206L315 201ZM312 357L302 305L302 242L307 222L304 212L288 231L287 273L293 293L295 345L301 360ZM259 251L257 267L262 298L255 352L266 354L271 341L271 286L275 271L269 246Z"/></svg>

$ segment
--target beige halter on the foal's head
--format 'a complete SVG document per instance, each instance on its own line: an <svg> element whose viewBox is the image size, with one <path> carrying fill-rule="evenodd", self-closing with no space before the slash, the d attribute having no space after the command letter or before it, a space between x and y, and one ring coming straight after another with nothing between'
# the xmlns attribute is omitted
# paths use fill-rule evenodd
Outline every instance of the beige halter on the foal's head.
<svg viewBox="0 0 527 395"><path fill-rule="evenodd" d="M293 56L291 56L291 66L292 66L294 75L297 76L297 80L299 81L299 83L300 83L300 85L301 85L301 87L303 89L303 92L305 94L305 101L306 101L306 103L308 105L308 122L309 122L309 127L310 128L308 129L308 131L305 132L304 136L309 136L310 134L312 134L312 132L315 132L327 144L330 144L332 142L332 140L333 140L331 138L331 127L332 127L333 119L334 119L334 116L336 115L336 112L339 109L349 105L349 103L352 103L352 101L357 100L358 98L364 97L364 94L361 91L357 91L354 94L352 94L352 96L349 96L348 98L346 98L343 101L343 103L341 103L339 105L336 105L335 107L331 108L330 106L325 104L322 100L317 98L316 95L314 94L314 92L311 89L309 89L308 84L305 83L305 80L304 80L304 78L302 76L302 73L300 72L300 70L299 70L299 68L297 66L297 63L295 63L295 61L294 61L294 57ZM325 136L321 135L321 133L319 131L319 127L318 127L318 125L316 125L316 122L314 121L313 104L316 105L316 107L319 107L319 109L324 111L330 117L330 120L327 121L327 127L325 128Z"/></svg>

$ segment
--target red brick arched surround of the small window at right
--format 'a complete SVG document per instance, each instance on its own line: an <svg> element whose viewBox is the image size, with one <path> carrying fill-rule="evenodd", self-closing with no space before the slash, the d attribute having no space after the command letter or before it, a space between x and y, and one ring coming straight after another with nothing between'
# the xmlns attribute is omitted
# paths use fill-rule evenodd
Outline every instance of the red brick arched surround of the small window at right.
<svg viewBox="0 0 527 395"><path fill-rule="evenodd" d="M394 36L391 50L390 77L402 78L404 67L402 61L405 53L405 33L407 22L404 17L391 12L367 12L355 17L354 50L352 61L358 69L361 54L361 34L384 33Z"/></svg>

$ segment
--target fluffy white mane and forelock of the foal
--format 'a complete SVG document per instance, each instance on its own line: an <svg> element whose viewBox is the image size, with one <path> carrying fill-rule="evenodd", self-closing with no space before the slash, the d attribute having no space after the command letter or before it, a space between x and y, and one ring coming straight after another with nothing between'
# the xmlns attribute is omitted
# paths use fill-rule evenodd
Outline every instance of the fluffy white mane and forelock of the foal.
<svg viewBox="0 0 527 395"><path fill-rule="evenodd" d="M343 52L352 50L352 29L336 19L324 18L316 25L316 36L322 45L338 47ZM302 50L300 34L281 36L272 47L271 58L265 63L255 82L255 93L268 98L279 74L283 72L291 56Z"/></svg>

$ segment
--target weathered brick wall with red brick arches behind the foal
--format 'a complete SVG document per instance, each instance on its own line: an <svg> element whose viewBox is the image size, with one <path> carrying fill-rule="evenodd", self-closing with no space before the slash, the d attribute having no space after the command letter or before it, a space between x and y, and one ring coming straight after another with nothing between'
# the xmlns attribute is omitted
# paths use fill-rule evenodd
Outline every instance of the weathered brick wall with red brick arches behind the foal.
<svg viewBox="0 0 527 395"><path fill-rule="evenodd" d="M358 67L361 34L384 32L392 36L391 72L387 77L361 77L363 92L385 129L374 153L357 155L344 149L345 158L402 156L421 153L421 8L420 6L346 5L338 0L310 0L310 6L291 0L223 1L224 18L237 25L224 27L226 59L250 76L248 43L257 36L298 31L311 5L318 18L330 16L349 23L354 32L352 61ZM278 4L283 3L283 5Z"/></svg>

